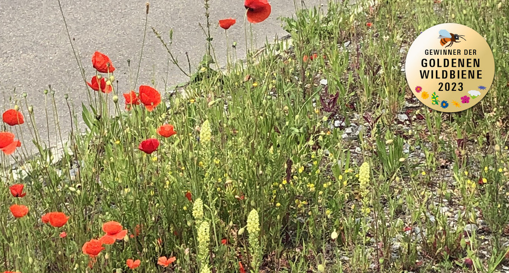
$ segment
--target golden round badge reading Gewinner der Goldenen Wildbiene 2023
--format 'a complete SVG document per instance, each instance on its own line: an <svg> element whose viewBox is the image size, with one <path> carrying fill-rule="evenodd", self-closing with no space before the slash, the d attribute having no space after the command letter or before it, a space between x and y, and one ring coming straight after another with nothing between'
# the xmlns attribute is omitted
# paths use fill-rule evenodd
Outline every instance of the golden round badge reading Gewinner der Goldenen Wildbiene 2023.
<svg viewBox="0 0 509 273"><path fill-rule="evenodd" d="M408 50L405 74L414 95L431 109L459 112L490 89L495 60L483 36L468 26L432 26Z"/></svg>

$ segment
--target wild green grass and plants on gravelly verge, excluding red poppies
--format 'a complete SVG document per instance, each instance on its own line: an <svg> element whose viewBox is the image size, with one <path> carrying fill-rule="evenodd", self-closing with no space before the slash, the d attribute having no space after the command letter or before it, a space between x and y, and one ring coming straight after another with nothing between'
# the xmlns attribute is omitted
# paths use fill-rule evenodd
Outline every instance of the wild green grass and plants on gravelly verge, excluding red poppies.
<svg viewBox="0 0 509 273"><path fill-rule="evenodd" d="M139 272L239 272L239 262L246 272L495 272L509 264L509 6L498 4L330 2L328 10L299 10L282 18L291 47L267 44L245 64L229 63L229 73L208 68L205 57L193 81L163 94L153 112L126 111L127 90L89 90L89 103L66 113L71 134L51 143L67 143L56 163L35 129L36 102L17 98L40 155L18 149L16 169L3 155L0 270L128 272L132 258L142 261ZM412 103L401 72L406 51L442 22L486 37L493 85L463 112L405 108ZM46 96L48 116L66 112L51 103L51 91ZM400 122L402 114L409 119ZM164 123L177 134L157 135ZM155 137L157 152L137 149ZM359 177L363 162L369 177ZM25 184L25 197L9 193L16 183ZM14 219L13 203L29 214ZM61 228L42 224L49 211L70 219ZM89 268L81 247L110 220L128 234L143 226L106 246ZM472 224L475 232L464 232ZM163 268L160 256L177 260Z"/></svg>

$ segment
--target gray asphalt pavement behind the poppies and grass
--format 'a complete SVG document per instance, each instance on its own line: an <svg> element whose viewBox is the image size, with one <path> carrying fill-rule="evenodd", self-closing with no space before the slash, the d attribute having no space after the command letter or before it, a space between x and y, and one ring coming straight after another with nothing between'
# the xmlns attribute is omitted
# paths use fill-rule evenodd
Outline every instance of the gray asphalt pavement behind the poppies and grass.
<svg viewBox="0 0 509 273"><path fill-rule="evenodd" d="M132 88L129 75L136 75L140 47L145 23L145 4L143 0L61 0L69 26L71 38L83 63L87 80L95 75L91 57L94 51L107 54L116 67L115 76L119 80L119 93ZM192 65L196 65L204 53L205 36L199 23L205 24L201 0L153 0L150 2L147 39L142 58L138 85L149 84L155 79L158 89L164 89L163 78L168 74L169 86L186 81L186 77L170 64L167 66L167 53L150 29L155 27L165 40L168 31L174 29L174 54L185 63L184 52L189 53ZM301 0L295 0L300 8ZM265 37L269 41L275 35L287 35L281 28L279 16L295 14L293 0L269 0L272 5L270 17L253 25L253 33L262 46ZM226 44L224 30L217 21L228 17L237 19L237 24L228 30L230 42L236 41L239 58L244 52L244 1L210 0L210 21L215 52L220 62L225 60ZM326 0L305 0L307 7L321 6ZM127 60L131 60L131 68ZM134 81L134 80L132 80ZM27 93L29 104L34 105L34 113L39 131L47 136L43 90L51 84L55 90L56 104L64 133L69 131L70 118L65 105L64 93L69 93L76 111L81 116L81 102L87 102L87 91L80 75L76 60L67 37L64 21L57 0L17 0L0 1L0 90L3 93L5 109L14 106L14 100ZM13 91L15 89L15 92ZM137 87L135 89L137 91ZM124 99L120 96L120 103ZM51 110L50 115L51 115ZM26 109L23 109L27 120ZM49 134L51 144L55 144L53 119L50 119ZM17 126L14 133L23 134L25 147L33 149L27 122ZM7 128L11 130L11 128ZM43 140L47 137L43 138Z"/></svg>

